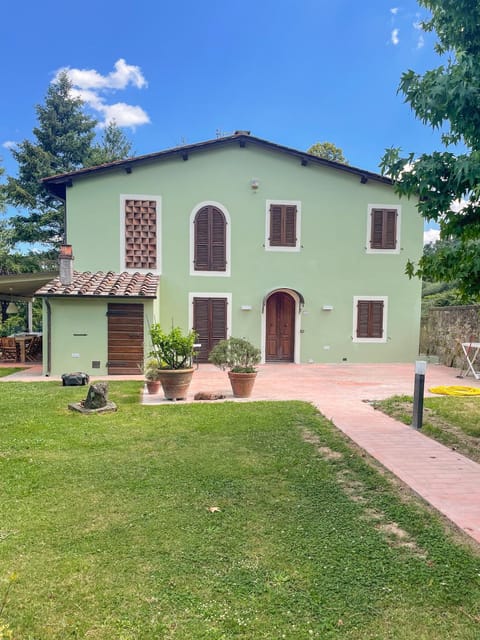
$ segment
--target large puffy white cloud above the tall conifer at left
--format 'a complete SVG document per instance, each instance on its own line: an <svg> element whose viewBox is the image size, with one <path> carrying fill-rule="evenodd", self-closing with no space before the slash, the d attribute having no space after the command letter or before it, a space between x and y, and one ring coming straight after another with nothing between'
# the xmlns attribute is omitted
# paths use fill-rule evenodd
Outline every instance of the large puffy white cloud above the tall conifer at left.
<svg viewBox="0 0 480 640"><path fill-rule="evenodd" d="M120 58L115 62L114 71L102 75L95 69L60 69L55 79L62 72L68 74L73 85L73 94L80 97L91 109L97 111L102 118L101 127L115 120L119 127L138 127L148 124L150 118L142 107L125 102L107 103L106 95L126 89L129 85L143 89L148 83L140 67L127 64ZM106 94L106 95L105 95Z"/></svg>

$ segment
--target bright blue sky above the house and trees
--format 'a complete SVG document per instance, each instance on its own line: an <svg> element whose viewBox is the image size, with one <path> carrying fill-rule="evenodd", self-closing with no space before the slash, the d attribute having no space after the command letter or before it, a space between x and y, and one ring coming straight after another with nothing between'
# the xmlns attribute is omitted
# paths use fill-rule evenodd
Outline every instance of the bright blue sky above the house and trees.
<svg viewBox="0 0 480 640"><path fill-rule="evenodd" d="M2 5L0 158L9 175L11 148L33 139L35 105L62 69L98 135L114 118L135 155L242 129L300 150L333 142L351 165L378 172L388 147L441 147L397 93L404 71L440 64L413 0Z"/></svg>

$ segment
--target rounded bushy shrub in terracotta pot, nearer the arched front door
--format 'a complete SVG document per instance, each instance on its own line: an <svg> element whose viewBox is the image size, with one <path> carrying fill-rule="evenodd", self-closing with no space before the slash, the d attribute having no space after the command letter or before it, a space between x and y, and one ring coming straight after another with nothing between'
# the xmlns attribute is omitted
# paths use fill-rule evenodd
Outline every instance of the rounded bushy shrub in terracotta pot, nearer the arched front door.
<svg viewBox="0 0 480 640"><path fill-rule="evenodd" d="M218 342L210 352L209 361L220 369L229 369L233 395L248 398L252 393L260 362L260 349L243 338L228 338Z"/></svg>

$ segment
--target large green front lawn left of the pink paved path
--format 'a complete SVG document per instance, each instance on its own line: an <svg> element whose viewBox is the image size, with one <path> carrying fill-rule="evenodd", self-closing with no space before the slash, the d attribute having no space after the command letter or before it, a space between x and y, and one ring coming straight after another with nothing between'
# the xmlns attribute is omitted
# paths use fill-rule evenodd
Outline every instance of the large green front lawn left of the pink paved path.
<svg viewBox="0 0 480 640"><path fill-rule="evenodd" d="M478 554L310 405L139 390L84 416L84 388L0 385L15 640L479 637Z"/></svg>

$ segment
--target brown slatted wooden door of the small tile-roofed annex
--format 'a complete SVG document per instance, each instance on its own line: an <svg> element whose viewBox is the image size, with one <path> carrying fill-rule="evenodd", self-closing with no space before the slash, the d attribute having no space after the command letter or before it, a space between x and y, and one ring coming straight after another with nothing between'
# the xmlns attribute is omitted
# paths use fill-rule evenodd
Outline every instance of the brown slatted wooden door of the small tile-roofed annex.
<svg viewBox="0 0 480 640"><path fill-rule="evenodd" d="M143 366L143 304L108 305L108 374L140 374Z"/></svg>

